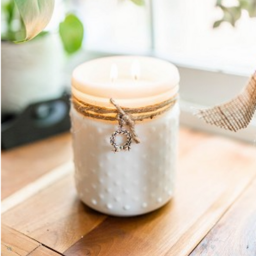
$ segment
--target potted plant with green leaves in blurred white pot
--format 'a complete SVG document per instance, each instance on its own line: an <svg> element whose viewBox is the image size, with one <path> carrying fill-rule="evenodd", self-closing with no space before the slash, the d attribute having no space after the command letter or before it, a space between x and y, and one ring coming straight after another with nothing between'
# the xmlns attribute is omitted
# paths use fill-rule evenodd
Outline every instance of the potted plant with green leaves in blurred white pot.
<svg viewBox="0 0 256 256"><path fill-rule="evenodd" d="M4 113L18 113L63 93L64 52L81 48L84 31L78 17L68 13L59 33L42 32L53 14L53 0L5 0L1 5L1 106Z"/></svg>

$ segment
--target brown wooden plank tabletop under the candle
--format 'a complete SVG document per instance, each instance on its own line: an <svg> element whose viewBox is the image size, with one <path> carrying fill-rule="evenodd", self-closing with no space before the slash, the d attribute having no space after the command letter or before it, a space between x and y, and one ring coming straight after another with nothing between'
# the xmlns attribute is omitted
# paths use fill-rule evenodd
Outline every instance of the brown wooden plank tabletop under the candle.
<svg viewBox="0 0 256 256"><path fill-rule="evenodd" d="M175 197L133 218L81 203L71 160L69 134L2 153L3 256L256 255L256 146L181 128Z"/></svg>

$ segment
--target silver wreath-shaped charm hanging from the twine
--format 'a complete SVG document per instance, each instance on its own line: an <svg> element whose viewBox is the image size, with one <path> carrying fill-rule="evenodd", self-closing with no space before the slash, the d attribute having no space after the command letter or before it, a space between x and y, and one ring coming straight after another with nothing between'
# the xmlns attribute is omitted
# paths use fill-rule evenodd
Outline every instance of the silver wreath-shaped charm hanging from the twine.
<svg viewBox="0 0 256 256"><path fill-rule="evenodd" d="M117 135L125 135L126 136L126 142L123 145L117 144L116 139ZM133 136L132 134L124 129L122 126L119 126L117 131L112 133L112 136L110 137L110 144L114 147L113 151L114 152L119 152L122 150L130 150L131 149L131 144L133 143Z"/></svg>

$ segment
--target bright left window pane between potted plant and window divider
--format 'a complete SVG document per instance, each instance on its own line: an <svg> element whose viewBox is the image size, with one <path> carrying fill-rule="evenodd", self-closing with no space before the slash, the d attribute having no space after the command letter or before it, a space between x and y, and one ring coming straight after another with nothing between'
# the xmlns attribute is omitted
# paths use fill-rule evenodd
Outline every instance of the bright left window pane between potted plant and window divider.
<svg viewBox="0 0 256 256"><path fill-rule="evenodd" d="M85 47L96 51L144 53L149 50L147 7L129 0L81 1Z"/></svg>

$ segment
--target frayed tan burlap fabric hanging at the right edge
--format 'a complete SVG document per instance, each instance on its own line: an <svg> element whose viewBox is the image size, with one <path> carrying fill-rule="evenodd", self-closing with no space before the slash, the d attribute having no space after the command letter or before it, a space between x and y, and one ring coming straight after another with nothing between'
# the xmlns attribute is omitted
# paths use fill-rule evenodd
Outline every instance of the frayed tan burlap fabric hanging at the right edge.
<svg viewBox="0 0 256 256"><path fill-rule="evenodd" d="M207 109L198 109L195 115L206 123L230 131L246 128L256 111L256 72L234 99Z"/></svg>

